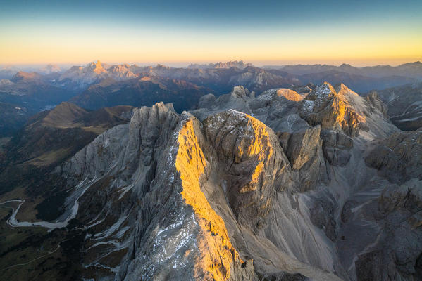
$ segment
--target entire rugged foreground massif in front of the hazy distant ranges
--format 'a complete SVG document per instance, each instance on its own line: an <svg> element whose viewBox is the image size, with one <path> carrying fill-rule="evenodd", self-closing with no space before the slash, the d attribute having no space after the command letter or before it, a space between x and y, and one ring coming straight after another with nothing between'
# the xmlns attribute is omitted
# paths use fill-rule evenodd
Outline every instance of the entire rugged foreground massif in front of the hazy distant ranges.
<svg viewBox="0 0 422 281"><path fill-rule="evenodd" d="M118 81L103 77L111 67L88 69L98 84L31 117L0 150L5 280L422 276L422 131L397 127L419 119L419 84L221 93L211 73L286 76L157 66ZM149 104L104 107L122 100Z"/></svg>

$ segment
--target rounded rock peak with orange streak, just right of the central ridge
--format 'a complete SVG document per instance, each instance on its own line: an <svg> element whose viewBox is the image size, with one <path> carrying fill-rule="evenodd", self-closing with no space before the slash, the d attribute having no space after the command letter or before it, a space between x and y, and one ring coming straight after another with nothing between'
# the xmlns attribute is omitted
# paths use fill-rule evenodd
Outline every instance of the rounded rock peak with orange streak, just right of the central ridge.
<svg viewBox="0 0 422 281"><path fill-rule="evenodd" d="M261 228L277 189L292 185L277 136L250 115L228 110L204 120L209 154L237 221Z"/></svg>

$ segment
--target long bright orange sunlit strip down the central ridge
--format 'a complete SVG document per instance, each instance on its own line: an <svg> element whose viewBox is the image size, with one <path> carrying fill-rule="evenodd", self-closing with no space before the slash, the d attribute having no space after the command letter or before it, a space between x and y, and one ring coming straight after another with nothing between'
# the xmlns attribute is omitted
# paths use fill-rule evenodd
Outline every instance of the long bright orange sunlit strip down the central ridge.
<svg viewBox="0 0 422 281"><path fill-rule="evenodd" d="M182 180L181 195L185 203L192 207L199 226L199 233L195 237L198 251L192 253L200 254L195 257L194 278L233 280L238 275L251 279L254 273L250 266L249 270L242 270L243 261L232 247L223 219L211 208L201 191L207 161L197 137L202 138L199 122L194 117L187 118L178 133L175 166Z"/></svg>

